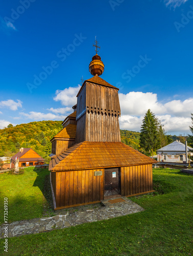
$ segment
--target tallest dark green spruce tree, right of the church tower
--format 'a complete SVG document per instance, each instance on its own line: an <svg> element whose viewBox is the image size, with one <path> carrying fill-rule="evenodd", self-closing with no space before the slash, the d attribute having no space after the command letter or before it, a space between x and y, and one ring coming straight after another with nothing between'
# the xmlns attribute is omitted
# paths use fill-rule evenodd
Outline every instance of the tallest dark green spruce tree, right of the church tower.
<svg viewBox="0 0 193 256"><path fill-rule="evenodd" d="M139 145L146 151L148 155L153 157L153 151L158 146L157 120L155 114L151 110L147 110L142 121L140 131Z"/></svg>

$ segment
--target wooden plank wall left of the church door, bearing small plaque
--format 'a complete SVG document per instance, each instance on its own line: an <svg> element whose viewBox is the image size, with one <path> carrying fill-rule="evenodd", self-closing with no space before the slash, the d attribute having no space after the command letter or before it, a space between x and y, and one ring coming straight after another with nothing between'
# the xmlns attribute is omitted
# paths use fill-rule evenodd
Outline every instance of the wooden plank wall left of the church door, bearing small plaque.
<svg viewBox="0 0 193 256"><path fill-rule="evenodd" d="M102 176L94 176L102 170ZM80 205L103 199L104 169L56 172L56 207ZM54 187L54 186L53 186Z"/></svg>

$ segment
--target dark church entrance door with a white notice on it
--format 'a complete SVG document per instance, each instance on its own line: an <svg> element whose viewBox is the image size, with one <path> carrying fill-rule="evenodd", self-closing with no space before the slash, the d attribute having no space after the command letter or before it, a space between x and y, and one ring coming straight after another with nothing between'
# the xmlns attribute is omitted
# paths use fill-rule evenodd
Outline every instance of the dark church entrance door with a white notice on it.
<svg viewBox="0 0 193 256"><path fill-rule="evenodd" d="M104 169L104 197L119 194L119 168Z"/></svg>

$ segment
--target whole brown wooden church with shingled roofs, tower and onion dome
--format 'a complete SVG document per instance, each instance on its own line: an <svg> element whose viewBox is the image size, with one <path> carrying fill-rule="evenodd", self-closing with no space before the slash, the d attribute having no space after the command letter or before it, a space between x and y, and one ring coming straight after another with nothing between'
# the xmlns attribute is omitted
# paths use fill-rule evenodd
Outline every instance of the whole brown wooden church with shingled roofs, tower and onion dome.
<svg viewBox="0 0 193 256"><path fill-rule="evenodd" d="M97 41L89 71L93 77L83 82L74 112L51 140L49 170L55 209L153 191L156 161L121 142L119 89L99 77L104 64L97 54Z"/></svg>

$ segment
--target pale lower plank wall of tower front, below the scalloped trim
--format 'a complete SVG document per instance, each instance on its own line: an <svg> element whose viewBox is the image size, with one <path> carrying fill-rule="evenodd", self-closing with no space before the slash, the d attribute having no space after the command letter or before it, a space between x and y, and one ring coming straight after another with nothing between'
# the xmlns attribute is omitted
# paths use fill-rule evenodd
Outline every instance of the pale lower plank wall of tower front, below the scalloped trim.
<svg viewBox="0 0 193 256"><path fill-rule="evenodd" d="M85 141L120 142L119 118L115 115L87 111L85 120Z"/></svg>

